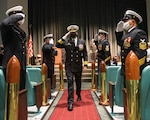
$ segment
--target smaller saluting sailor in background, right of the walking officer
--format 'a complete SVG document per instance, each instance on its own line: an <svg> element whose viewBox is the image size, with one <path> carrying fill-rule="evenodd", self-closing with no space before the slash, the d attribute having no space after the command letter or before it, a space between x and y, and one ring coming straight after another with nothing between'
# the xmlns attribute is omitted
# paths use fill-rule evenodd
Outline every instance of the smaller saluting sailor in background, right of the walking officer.
<svg viewBox="0 0 150 120"><path fill-rule="evenodd" d="M99 29L98 34L95 35L94 41L97 47L98 64L104 61L106 65L110 65L110 44L106 39L106 35L108 35L108 32Z"/></svg>

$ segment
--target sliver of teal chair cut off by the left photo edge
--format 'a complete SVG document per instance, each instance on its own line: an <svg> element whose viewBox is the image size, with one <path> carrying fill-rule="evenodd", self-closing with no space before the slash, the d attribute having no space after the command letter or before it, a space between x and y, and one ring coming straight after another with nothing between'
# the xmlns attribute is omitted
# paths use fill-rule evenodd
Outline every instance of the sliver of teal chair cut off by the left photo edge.
<svg viewBox="0 0 150 120"><path fill-rule="evenodd" d="M0 69L0 120L4 120L4 109L5 109L5 77L3 70Z"/></svg>

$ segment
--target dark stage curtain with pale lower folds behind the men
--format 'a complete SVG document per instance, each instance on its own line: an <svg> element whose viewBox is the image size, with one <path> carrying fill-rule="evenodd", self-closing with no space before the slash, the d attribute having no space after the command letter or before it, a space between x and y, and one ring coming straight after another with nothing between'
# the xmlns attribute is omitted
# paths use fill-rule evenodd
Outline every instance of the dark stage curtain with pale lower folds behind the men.
<svg viewBox="0 0 150 120"><path fill-rule="evenodd" d="M101 28L108 31L111 52L116 55L116 24L127 9L141 14L144 21L140 27L147 32L145 0L28 0L28 4L34 54L40 53L44 35L53 33L56 42L67 32L68 25L77 24L79 37L86 40L87 50L90 40Z"/></svg>

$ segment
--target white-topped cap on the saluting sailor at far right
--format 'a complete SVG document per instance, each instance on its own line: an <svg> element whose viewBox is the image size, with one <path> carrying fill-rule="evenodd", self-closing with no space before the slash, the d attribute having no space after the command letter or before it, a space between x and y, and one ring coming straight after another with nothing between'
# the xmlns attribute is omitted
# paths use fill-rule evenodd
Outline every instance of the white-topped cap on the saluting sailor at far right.
<svg viewBox="0 0 150 120"><path fill-rule="evenodd" d="M137 23L141 23L143 21L142 17L132 10L127 10L124 14L123 21L129 19L134 19Z"/></svg>

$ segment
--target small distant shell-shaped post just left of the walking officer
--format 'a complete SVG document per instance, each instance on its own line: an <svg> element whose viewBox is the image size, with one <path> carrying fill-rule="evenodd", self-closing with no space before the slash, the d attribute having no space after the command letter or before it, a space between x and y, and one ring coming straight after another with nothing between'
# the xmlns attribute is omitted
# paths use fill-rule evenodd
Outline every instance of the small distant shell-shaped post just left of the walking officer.
<svg viewBox="0 0 150 120"><path fill-rule="evenodd" d="M63 64L59 64L60 90L64 90Z"/></svg>

